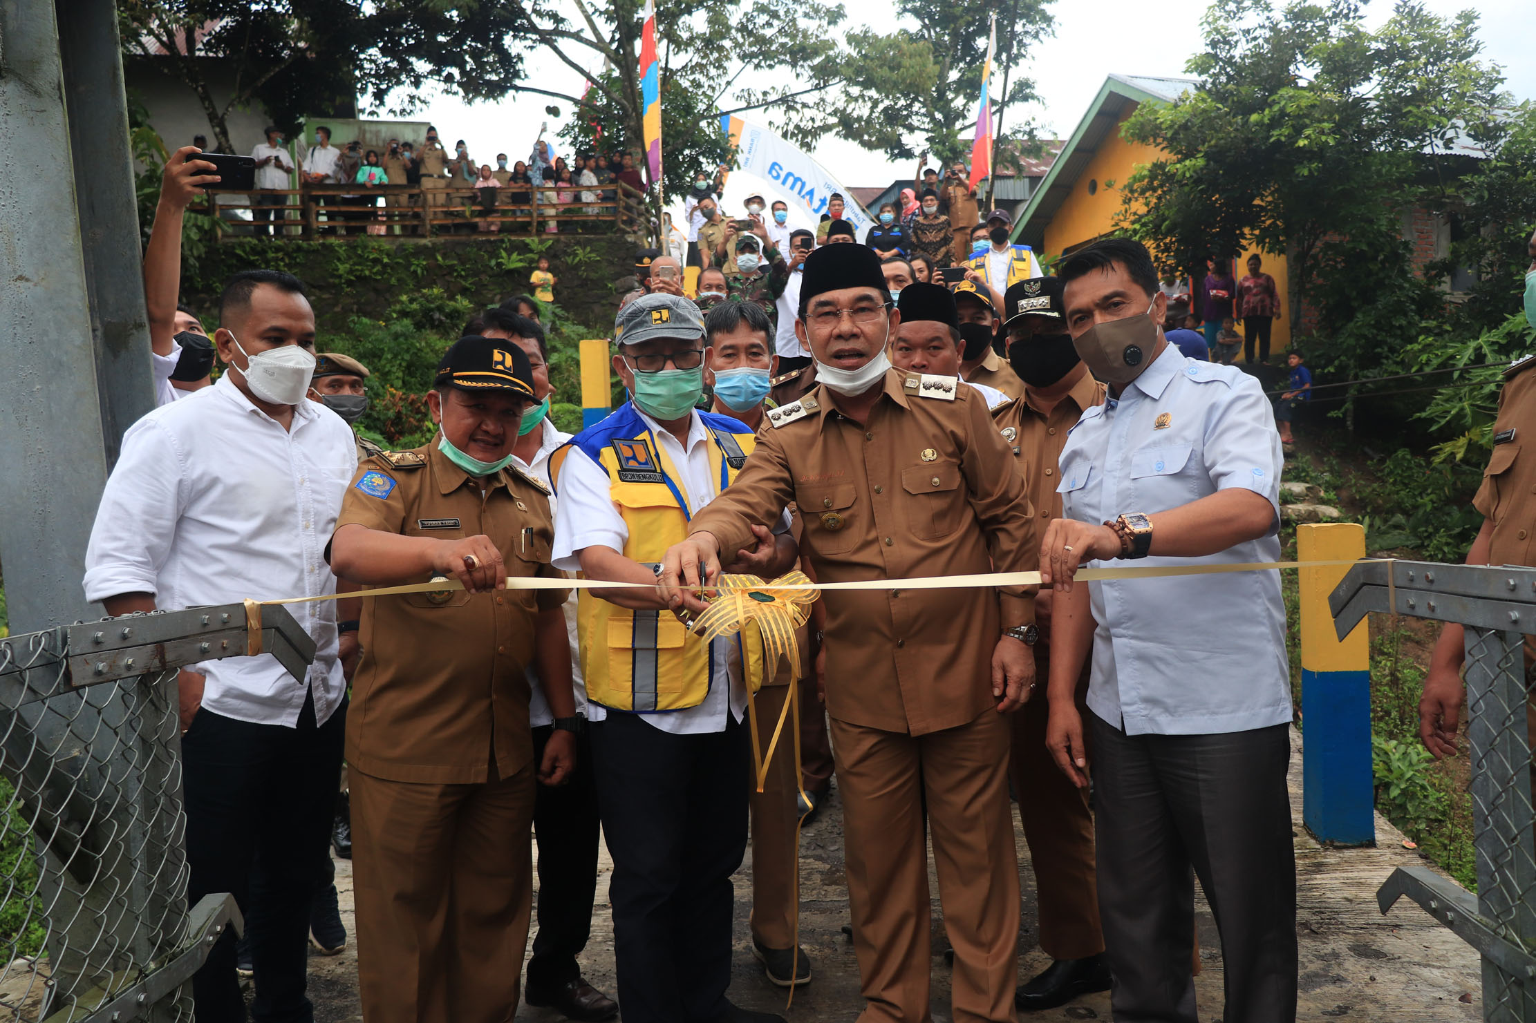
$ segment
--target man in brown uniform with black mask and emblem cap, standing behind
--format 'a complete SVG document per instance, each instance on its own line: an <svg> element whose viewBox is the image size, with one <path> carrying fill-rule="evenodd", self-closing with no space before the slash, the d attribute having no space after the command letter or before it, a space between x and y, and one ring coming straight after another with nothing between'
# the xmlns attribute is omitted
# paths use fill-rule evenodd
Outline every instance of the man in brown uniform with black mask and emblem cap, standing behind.
<svg viewBox="0 0 1536 1023"><path fill-rule="evenodd" d="M1057 278L1034 278L1008 288L1003 299L1008 360L1025 383L1023 397L994 413L1003 440L1014 451L1041 526L1061 517L1055 492L1066 434L1083 410L1104 402L1104 385L1089 374L1072 348ZM1051 676L1051 590L1035 597L1040 643L1035 676ZM1086 706L1087 670L1077 699ZM1040 948L1055 962L1018 989L1023 1011L1049 1009L1078 994L1109 989L1104 934L1098 926L1098 885L1094 874L1094 816L1087 790L1057 770L1046 748L1051 704L1032 699L1012 716L1009 778L1018 794L1018 817L1029 842L1040 903Z"/></svg>

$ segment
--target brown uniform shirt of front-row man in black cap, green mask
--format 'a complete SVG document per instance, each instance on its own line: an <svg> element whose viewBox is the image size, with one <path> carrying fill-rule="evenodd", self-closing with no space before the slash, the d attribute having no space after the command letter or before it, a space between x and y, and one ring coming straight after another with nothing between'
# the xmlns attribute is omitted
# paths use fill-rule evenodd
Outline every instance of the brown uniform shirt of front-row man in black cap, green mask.
<svg viewBox="0 0 1536 1023"><path fill-rule="evenodd" d="M511 469L485 482L482 497L436 445L384 452L358 466L336 529L358 523L432 540L484 534L501 549L507 575L558 577L544 486ZM495 778L527 767L535 618L565 603L567 592L364 597L347 762L375 778L433 784L490 781L493 758Z"/></svg>

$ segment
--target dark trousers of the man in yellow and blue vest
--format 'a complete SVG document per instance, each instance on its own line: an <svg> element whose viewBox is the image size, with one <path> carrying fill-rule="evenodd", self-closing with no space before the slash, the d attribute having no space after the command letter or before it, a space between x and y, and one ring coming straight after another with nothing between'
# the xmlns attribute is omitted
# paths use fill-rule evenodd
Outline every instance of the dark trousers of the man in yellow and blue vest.
<svg viewBox="0 0 1536 1023"><path fill-rule="evenodd" d="M710 1023L731 983L731 874L746 851L746 730L671 735L610 712L591 725L613 854L624 1023Z"/></svg>

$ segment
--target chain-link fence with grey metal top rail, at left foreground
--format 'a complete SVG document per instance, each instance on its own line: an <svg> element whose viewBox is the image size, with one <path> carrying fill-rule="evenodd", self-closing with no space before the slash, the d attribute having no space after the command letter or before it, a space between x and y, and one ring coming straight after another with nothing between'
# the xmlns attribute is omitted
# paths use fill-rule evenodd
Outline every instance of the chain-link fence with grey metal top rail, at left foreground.
<svg viewBox="0 0 1536 1023"><path fill-rule="evenodd" d="M243 604L0 640L0 1023L192 1018L240 914L186 903L177 675L258 650L303 678L315 647Z"/></svg>

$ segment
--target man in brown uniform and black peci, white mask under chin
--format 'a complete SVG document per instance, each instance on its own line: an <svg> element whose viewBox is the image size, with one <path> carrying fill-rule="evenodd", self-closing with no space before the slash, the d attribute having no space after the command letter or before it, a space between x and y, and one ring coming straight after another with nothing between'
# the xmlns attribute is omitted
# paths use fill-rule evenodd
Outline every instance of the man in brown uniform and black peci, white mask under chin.
<svg viewBox="0 0 1536 1023"><path fill-rule="evenodd" d="M1035 567L1035 518L983 402L954 377L906 374L880 259L863 245L805 262L796 331L820 385L768 413L736 483L662 563L676 607L796 502L823 583ZM734 544L734 546L733 546ZM680 587L679 587L680 584ZM1008 721L1034 683L1034 595L985 587L829 590L828 712L845 805L862 1023L929 1018L923 808L957 1020L1014 1020L1018 873ZM955 623L963 623L962 629ZM995 636L995 640L994 640Z"/></svg>

